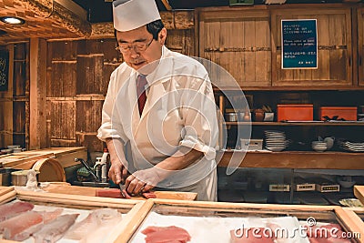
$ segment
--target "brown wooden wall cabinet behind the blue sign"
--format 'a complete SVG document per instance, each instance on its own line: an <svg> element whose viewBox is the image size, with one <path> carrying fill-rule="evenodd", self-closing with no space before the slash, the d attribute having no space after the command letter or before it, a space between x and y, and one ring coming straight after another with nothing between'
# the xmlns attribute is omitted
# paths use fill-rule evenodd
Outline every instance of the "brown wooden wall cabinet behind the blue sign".
<svg viewBox="0 0 364 243"><path fill-rule="evenodd" d="M210 68L220 89L232 86L329 89L357 85L353 76L353 41L357 25L352 5L284 5L202 8L197 11L198 55L226 69ZM359 77L363 53L363 10L359 8ZM316 19L318 68L281 68L281 20ZM354 23L354 24L352 24ZM208 65L207 65L208 66ZM355 66L356 67L356 66ZM231 75L231 76L230 76ZM232 80L233 77L235 80Z"/></svg>

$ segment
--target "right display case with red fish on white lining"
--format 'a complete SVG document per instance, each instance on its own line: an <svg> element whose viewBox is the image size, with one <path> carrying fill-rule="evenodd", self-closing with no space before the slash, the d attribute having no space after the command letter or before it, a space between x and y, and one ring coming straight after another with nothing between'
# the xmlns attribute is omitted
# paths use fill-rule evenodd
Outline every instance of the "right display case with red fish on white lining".
<svg viewBox="0 0 364 243"><path fill-rule="evenodd" d="M222 243L241 242L238 240L242 239L244 242L260 242L258 240L262 239L265 242L273 242L273 239L309 242L312 238L327 240L334 237L341 238L340 242L364 242L357 223L339 207L150 199L134 216L126 222L126 231L116 239L117 242L145 242L170 236L182 242ZM331 228L336 228L333 231L339 235L315 235ZM299 235L299 229L308 234L305 236L302 231ZM347 235L355 237L345 238Z"/></svg>

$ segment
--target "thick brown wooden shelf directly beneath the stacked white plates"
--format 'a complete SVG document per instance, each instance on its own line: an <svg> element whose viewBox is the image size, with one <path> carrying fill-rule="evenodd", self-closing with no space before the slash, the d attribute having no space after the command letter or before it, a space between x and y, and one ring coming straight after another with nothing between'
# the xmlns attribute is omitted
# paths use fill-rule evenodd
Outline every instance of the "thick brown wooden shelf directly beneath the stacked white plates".
<svg viewBox="0 0 364 243"><path fill-rule="evenodd" d="M230 160L241 161L238 167L364 169L363 153L331 151L217 152L218 167L227 167Z"/></svg>

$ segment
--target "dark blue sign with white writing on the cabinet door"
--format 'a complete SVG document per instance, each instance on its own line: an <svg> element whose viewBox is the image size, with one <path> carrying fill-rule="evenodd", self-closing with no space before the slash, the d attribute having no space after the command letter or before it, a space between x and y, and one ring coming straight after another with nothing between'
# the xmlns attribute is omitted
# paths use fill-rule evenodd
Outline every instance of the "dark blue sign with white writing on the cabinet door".
<svg viewBox="0 0 364 243"><path fill-rule="evenodd" d="M282 20L282 69L318 68L316 19Z"/></svg>

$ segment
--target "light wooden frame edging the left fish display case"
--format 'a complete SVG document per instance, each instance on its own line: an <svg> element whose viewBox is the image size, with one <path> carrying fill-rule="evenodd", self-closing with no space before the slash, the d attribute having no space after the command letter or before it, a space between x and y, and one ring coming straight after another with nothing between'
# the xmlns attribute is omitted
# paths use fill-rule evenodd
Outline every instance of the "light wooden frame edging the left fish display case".
<svg viewBox="0 0 364 243"><path fill-rule="evenodd" d="M49 206L57 208L91 210L96 208L115 208L122 214L123 219L114 228L110 229L109 235L103 242L115 242L115 239L123 232L121 226L127 225L124 221L135 218L135 214L140 210L143 201L133 199L120 199L109 197L88 197L78 195L66 195L57 193L44 193L15 189L14 187L0 187L0 204L5 204L12 200L28 201L36 206ZM123 223L123 224L121 224ZM29 239L25 240L28 242ZM18 242L0 238L1 242ZM30 240L33 242L32 240Z"/></svg>

